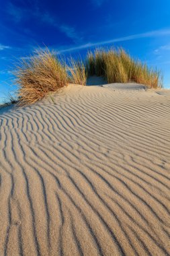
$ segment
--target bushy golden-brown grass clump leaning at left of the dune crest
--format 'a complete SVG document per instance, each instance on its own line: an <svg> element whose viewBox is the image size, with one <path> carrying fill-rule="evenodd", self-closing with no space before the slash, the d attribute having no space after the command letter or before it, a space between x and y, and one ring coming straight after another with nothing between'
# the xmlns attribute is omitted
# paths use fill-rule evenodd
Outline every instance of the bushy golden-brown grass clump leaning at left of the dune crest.
<svg viewBox="0 0 170 256"><path fill-rule="evenodd" d="M67 85L65 65L48 49L39 49L34 56L19 61L14 75L19 87L19 106L33 104Z"/></svg>

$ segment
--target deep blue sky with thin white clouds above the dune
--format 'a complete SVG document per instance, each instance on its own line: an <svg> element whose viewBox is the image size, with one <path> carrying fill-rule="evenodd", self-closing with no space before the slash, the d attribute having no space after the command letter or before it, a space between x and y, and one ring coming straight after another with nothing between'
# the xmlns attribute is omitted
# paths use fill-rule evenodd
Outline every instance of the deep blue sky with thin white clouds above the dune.
<svg viewBox="0 0 170 256"><path fill-rule="evenodd" d="M0 1L0 101L15 90L13 63L44 44L66 57L123 46L161 69L170 88L169 0Z"/></svg>

